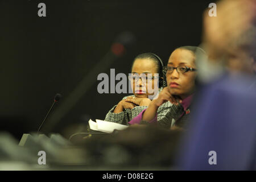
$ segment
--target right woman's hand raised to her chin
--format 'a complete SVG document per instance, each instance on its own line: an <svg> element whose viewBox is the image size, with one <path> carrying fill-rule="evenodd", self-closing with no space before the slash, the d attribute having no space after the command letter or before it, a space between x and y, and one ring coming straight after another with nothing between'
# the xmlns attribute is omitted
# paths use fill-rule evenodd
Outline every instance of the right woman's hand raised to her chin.
<svg viewBox="0 0 256 182"><path fill-rule="evenodd" d="M158 98L152 101L152 104L154 104L156 107L159 107L160 105L164 104L164 102L167 102L167 101L170 101L172 104L175 104L175 105L178 105L179 103L181 103L181 100L176 99L174 96L172 96L168 90L168 87L165 87L159 93Z"/></svg>

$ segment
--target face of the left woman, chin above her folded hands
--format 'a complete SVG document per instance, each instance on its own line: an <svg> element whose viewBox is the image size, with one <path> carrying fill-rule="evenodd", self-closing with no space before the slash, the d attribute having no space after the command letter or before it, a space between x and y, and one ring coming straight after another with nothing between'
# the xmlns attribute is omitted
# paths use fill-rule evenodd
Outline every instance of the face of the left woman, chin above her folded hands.
<svg viewBox="0 0 256 182"><path fill-rule="evenodd" d="M157 72L156 64L151 59L136 59L133 64L133 68L131 69L131 73L133 75L141 75L144 73L146 77L150 76L148 74L151 73L151 76L156 76L155 73ZM158 80L157 80L158 81ZM148 85L150 84L150 85ZM148 93L148 86L152 86L151 88L154 88L154 79L150 81L148 79L147 81L145 79L139 78L135 79L131 85L133 87L133 93L136 97L146 98L148 95L154 95L154 93ZM156 85L157 86L157 85ZM158 90L158 89L157 89Z"/></svg>

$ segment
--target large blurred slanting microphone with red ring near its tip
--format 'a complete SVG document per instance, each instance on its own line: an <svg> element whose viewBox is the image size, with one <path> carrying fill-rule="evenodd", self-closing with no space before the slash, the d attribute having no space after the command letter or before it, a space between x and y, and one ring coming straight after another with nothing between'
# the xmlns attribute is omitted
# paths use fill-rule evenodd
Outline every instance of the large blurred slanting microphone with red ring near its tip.
<svg viewBox="0 0 256 182"><path fill-rule="evenodd" d="M125 53L126 48L131 46L134 42L135 37L131 32L122 32L119 34L106 55L98 61L92 69L90 69L90 72L82 78L81 82L75 89L73 89L69 96L64 96L63 102L61 102L60 105L56 107L56 110L53 111L43 131L51 131L53 127L61 121L61 118L65 117L72 107L75 106L84 94L93 86L97 81L98 74L105 72L118 57L121 57Z"/></svg>

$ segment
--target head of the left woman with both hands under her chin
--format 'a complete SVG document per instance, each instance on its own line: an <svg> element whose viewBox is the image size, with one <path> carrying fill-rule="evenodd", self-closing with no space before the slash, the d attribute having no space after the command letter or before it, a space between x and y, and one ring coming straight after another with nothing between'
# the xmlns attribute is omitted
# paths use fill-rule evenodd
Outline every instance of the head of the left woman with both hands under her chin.
<svg viewBox="0 0 256 182"><path fill-rule="evenodd" d="M131 67L130 81L136 97L155 96L155 92L158 92L160 67L158 58L151 53L142 53L135 57ZM152 90L149 92L148 88Z"/></svg>

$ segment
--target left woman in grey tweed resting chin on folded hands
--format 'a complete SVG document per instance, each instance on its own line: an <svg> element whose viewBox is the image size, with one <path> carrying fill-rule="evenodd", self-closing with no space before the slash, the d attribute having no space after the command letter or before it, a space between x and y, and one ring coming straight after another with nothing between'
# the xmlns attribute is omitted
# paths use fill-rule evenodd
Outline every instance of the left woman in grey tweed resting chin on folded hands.
<svg viewBox="0 0 256 182"><path fill-rule="evenodd" d="M105 121L127 125L146 109L159 90L166 86L162 60L154 53L142 53L135 57L129 74L133 96L124 97L106 114ZM128 101L136 101L136 103Z"/></svg>

